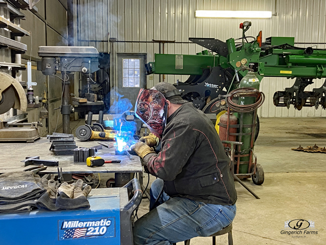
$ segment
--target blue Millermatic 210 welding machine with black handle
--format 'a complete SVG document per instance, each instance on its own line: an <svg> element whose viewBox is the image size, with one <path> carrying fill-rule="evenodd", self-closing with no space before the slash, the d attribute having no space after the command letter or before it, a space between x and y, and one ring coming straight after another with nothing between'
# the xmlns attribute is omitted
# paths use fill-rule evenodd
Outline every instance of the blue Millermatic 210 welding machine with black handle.
<svg viewBox="0 0 326 245"><path fill-rule="evenodd" d="M87 210L0 214L0 244L132 245L131 215L141 198L139 181L132 179L121 188L93 189Z"/></svg>

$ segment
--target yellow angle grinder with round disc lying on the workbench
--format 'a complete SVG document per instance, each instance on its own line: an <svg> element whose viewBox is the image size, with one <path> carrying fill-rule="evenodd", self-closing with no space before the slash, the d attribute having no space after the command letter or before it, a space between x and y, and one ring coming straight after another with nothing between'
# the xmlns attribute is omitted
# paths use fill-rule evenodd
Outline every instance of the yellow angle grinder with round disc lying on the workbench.
<svg viewBox="0 0 326 245"><path fill-rule="evenodd" d="M112 140L116 137L114 130L104 130L104 132L93 131L89 125L79 126L76 130L76 137L81 141L88 140Z"/></svg>

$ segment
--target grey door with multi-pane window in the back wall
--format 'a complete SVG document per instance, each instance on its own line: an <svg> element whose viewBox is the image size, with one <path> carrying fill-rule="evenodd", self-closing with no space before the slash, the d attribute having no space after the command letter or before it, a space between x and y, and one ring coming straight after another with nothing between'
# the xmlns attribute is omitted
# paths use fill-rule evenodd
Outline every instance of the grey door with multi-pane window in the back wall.
<svg viewBox="0 0 326 245"><path fill-rule="evenodd" d="M118 54L118 103L119 98L129 99L134 110L140 88L146 87L146 54Z"/></svg>

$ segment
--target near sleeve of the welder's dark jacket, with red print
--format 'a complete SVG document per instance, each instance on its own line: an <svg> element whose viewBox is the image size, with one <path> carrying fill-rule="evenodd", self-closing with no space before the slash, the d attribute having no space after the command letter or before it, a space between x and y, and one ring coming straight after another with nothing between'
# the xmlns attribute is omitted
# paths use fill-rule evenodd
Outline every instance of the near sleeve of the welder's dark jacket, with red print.
<svg viewBox="0 0 326 245"><path fill-rule="evenodd" d="M148 172L165 181L173 181L193 154L197 134L188 124L171 121L162 137L161 151L144 157Z"/></svg>

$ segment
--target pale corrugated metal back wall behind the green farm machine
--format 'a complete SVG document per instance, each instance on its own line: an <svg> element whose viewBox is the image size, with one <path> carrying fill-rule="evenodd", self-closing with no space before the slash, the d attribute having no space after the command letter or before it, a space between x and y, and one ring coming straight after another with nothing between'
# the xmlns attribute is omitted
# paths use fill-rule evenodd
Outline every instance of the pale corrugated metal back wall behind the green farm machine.
<svg viewBox="0 0 326 245"><path fill-rule="evenodd" d="M92 45L99 52L110 52L108 38L128 41L114 43L113 56L117 52L141 52L147 53L147 61L154 61L158 44L138 41L155 39L188 42L189 37L226 40L241 36L239 24L244 19L198 19L195 18L196 10L272 11L277 16L250 20L252 27L247 35L256 36L262 30L263 39L270 36L292 36L295 37L295 42L306 43L298 45L302 47L326 41L325 0L74 0L74 3L78 26L77 45ZM326 46L318 44L317 48ZM201 46L193 43L165 44L165 53L170 54L195 54L201 50ZM166 81L170 83L175 83L177 79L185 81L187 76L166 76ZM323 80L317 80L306 90L320 87ZM147 87L158 81L159 75L147 76ZM292 86L293 82L286 78L264 78L261 90L266 94L266 101L260 108L259 115L326 116L321 108L315 110L304 107L297 111L293 107L288 110L273 105L274 92Z"/></svg>

